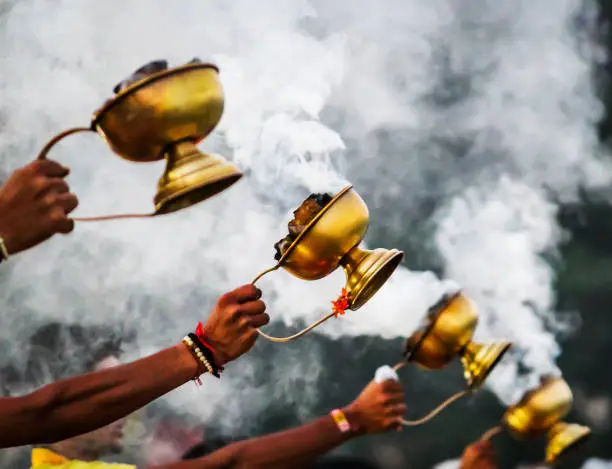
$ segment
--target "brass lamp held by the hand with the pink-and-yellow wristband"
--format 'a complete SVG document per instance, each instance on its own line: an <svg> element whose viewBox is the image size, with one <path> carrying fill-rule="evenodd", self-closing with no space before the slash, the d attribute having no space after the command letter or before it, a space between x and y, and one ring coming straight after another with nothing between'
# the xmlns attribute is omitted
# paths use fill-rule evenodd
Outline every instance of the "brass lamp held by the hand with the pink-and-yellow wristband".
<svg viewBox="0 0 612 469"><path fill-rule="evenodd" d="M478 390L510 349L510 342L473 342L477 324L478 312L474 304L459 291L445 295L432 306L423 326L407 339L405 361L397 364L396 370L408 363L416 363L428 370L440 370L459 357L468 387L451 396L424 418L404 420L404 425L425 423L460 397Z"/></svg>

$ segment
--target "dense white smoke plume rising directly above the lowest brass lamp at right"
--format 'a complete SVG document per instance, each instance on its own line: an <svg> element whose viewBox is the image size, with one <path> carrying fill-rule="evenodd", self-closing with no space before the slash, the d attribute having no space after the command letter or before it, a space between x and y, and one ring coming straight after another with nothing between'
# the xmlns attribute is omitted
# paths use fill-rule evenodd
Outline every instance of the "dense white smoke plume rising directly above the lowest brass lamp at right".
<svg viewBox="0 0 612 469"><path fill-rule="evenodd" d="M559 374L552 359L560 353L554 333L562 326L553 312L553 271L538 255L559 241L556 207L541 192L502 179L490 190L466 190L446 210L437 245L447 274L465 279L480 305L478 336L512 339L520 365L535 371L519 374L519 362L506 359L491 375L494 392L516 401L542 374Z"/></svg>

